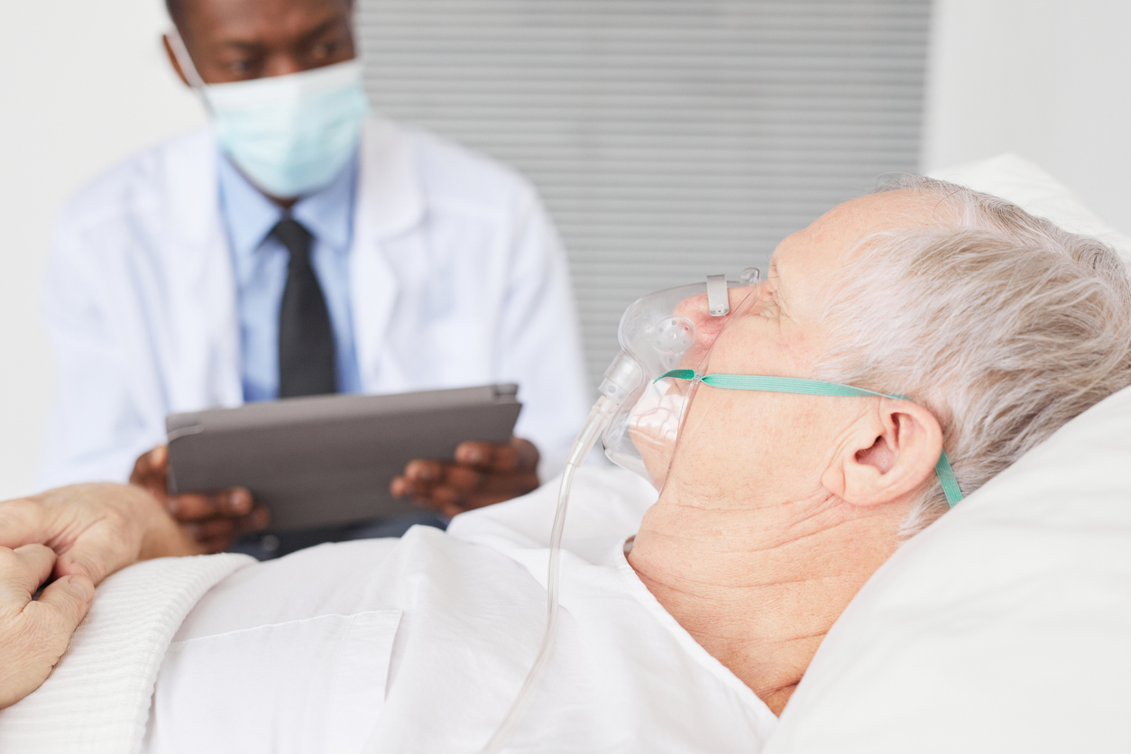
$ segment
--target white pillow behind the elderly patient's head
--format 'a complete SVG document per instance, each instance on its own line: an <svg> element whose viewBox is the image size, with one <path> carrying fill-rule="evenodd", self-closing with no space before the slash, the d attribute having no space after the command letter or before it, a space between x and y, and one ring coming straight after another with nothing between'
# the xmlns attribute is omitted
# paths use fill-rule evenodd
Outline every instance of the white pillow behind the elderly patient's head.
<svg viewBox="0 0 1131 754"><path fill-rule="evenodd" d="M1017 157L939 176L1131 250ZM1131 752L1131 388L864 586L765 749L815 752Z"/></svg>

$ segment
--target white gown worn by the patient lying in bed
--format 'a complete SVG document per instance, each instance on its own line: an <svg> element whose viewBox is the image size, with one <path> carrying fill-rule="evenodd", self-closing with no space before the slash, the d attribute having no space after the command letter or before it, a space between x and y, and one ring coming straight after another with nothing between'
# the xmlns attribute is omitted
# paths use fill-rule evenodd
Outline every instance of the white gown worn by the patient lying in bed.
<svg viewBox="0 0 1131 754"><path fill-rule="evenodd" d="M752 754L776 725L629 566L639 484L579 477L556 642L508 752ZM146 751L477 752L542 638L553 493L228 577L165 656Z"/></svg>

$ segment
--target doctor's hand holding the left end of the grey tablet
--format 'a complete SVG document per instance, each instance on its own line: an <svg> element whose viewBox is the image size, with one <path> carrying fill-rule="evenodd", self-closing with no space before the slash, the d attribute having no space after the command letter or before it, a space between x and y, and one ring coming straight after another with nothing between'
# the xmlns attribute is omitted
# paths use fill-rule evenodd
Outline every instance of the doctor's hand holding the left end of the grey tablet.
<svg viewBox="0 0 1131 754"><path fill-rule="evenodd" d="M243 487L169 494L166 445L157 445L138 458L130 484L159 500L205 553L223 552L239 535L258 531L270 521L267 509L256 505Z"/></svg>

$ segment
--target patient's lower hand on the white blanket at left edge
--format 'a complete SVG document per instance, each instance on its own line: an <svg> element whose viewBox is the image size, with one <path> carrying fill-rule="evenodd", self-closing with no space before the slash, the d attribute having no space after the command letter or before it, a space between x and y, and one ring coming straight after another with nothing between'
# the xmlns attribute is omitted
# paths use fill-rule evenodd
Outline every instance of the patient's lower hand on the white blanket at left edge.
<svg viewBox="0 0 1131 754"><path fill-rule="evenodd" d="M0 547L0 709L38 688L90 609L94 583L68 575L32 595L55 565L44 545Z"/></svg>

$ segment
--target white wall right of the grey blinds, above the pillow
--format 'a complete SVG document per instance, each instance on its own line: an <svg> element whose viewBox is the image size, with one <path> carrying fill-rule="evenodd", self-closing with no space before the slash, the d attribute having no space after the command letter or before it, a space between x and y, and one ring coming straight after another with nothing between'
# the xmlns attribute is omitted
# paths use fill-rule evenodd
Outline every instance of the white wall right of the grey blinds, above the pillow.
<svg viewBox="0 0 1131 754"><path fill-rule="evenodd" d="M1131 3L934 0L923 168L1026 157L1131 233Z"/></svg>

